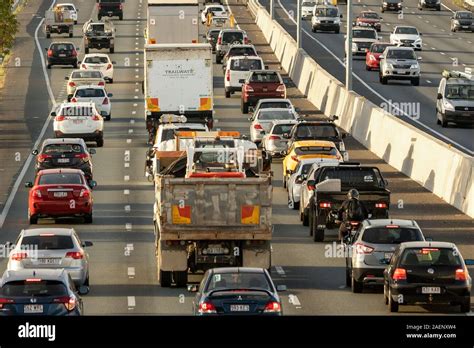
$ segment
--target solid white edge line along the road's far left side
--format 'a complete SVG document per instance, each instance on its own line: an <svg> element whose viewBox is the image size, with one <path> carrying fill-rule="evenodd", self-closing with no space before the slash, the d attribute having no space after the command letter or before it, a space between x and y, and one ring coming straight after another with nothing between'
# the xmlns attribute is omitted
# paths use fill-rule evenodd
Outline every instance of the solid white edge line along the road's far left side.
<svg viewBox="0 0 474 348"><path fill-rule="evenodd" d="M53 0L51 5L49 6L48 10L51 10L56 3L56 0ZM46 63L44 61L44 55L43 55L43 48L40 45L39 39L38 39L38 31L43 25L44 18L39 22L38 26L35 29L35 43L36 47L38 49L38 52L40 54L40 60L41 60L41 66L43 68L43 75L44 79L46 82L46 88L48 89L48 95L49 99L51 100L51 103L53 104L53 108L56 105L56 99L54 98L54 93L51 88L51 83L49 81L48 77L48 71L46 70ZM44 134L46 133L46 130L49 127L49 123L51 122L51 117L48 116L46 120L44 121L43 128L41 128L41 132L38 135L38 138L36 138L36 141L33 145L33 149L36 149L39 147L41 140L44 137ZM18 192L18 189L20 188L20 184L23 182L23 178L25 177L26 172L28 171L28 168L31 164L31 161L33 160L33 155L29 154L28 158L26 159L25 163L23 164L23 167L21 168L20 174L18 175L18 178L16 179L15 183L13 184L12 190L10 192L10 195L7 198L7 201L5 202L5 206L3 207L2 214L0 215L0 228L3 227L3 224L5 223L5 220L7 218L8 212L10 211L10 208L13 204L13 200L15 199L16 193Z"/></svg>

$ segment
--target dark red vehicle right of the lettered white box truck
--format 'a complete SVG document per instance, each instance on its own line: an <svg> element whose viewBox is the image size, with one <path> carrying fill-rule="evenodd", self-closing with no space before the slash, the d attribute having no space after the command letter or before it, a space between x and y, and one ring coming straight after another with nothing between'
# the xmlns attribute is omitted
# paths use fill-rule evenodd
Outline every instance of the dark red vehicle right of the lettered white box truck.
<svg viewBox="0 0 474 348"><path fill-rule="evenodd" d="M286 87L278 71L253 70L241 83L243 114L247 114L249 106L255 106L260 99L286 98Z"/></svg>

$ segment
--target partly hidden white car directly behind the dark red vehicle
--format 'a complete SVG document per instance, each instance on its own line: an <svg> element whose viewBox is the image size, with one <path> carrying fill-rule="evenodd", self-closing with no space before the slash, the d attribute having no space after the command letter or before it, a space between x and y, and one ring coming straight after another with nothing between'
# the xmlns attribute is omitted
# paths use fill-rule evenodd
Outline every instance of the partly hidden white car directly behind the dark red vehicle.
<svg viewBox="0 0 474 348"><path fill-rule="evenodd" d="M260 109L249 118L250 140L260 143L273 127L273 121L297 121L298 115L292 109Z"/></svg>

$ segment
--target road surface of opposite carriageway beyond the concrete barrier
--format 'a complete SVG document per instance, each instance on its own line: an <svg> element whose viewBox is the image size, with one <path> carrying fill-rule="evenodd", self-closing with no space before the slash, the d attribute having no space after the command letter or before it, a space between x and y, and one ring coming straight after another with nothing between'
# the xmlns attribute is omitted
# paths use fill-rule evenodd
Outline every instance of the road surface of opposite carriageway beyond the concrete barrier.
<svg viewBox="0 0 474 348"><path fill-rule="evenodd" d="M296 38L296 1L275 0L275 18ZM269 9L269 1L262 4ZM354 1L354 19L361 11L375 11L382 17L382 41L390 41L390 33L397 25L415 26L423 34L423 50L417 52L421 57L420 86L411 86L403 81L391 81L388 85L379 82L377 72L365 70L365 55L354 58L353 88L375 104L392 104L391 110L402 109L400 117L418 128L434 135L442 141L472 155L474 153L473 128L471 126L453 126L441 128L436 124L436 93L444 69L461 70L474 66L474 34L471 32L450 31L452 11L458 8L445 1L441 11L418 10L417 1L403 2L403 14L380 12L381 2L377 0ZM344 71L344 35L346 34L347 7L339 5L343 14L340 34L331 32L311 32L311 21L303 22L303 48L318 64L329 71L339 81L345 81ZM406 104L404 104L406 103ZM404 110L403 105L412 109ZM416 112L414 112L416 110ZM419 110L419 113L418 113ZM405 115L403 116L403 114ZM412 117L409 117L412 116Z"/></svg>

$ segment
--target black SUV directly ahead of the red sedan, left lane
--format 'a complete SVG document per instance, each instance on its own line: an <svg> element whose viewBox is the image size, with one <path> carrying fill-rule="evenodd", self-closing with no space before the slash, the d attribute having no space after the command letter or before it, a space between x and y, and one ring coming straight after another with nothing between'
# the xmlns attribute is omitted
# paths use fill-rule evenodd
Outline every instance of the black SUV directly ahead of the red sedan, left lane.
<svg viewBox="0 0 474 348"><path fill-rule="evenodd" d="M91 155L94 149L87 149L86 143L79 138L46 139L41 149L33 150L36 156L35 169L73 168L84 172L87 180L92 180Z"/></svg>

